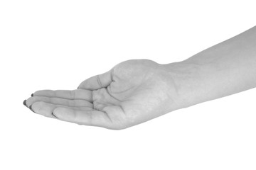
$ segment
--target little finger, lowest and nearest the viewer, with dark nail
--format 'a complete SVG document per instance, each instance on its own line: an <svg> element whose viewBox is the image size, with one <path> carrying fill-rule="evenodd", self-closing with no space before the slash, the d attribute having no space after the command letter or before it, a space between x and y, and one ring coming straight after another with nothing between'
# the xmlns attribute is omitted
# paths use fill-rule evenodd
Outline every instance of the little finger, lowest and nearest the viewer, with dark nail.
<svg viewBox="0 0 256 170"><path fill-rule="evenodd" d="M112 128L112 120L107 113L101 111L75 111L70 108L55 108L53 111L58 119L80 125Z"/></svg>

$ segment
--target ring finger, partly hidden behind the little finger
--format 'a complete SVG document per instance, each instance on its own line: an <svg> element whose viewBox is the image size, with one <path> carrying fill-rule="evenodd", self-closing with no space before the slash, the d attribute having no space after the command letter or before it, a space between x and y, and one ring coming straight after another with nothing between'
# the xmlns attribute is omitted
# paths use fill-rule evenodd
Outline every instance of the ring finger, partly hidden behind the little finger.
<svg viewBox="0 0 256 170"><path fill-rule="evenodd" d="M55 115L53 115L53 110L58 107L70 108L75 111L93 111L92 108L68 107L68 106L54 105L54 104L46 103L43 101L37 101L37 102L33 103L30 108L33 112L38 113L40 115L44 115L49 118L56 118Z"/></svg>

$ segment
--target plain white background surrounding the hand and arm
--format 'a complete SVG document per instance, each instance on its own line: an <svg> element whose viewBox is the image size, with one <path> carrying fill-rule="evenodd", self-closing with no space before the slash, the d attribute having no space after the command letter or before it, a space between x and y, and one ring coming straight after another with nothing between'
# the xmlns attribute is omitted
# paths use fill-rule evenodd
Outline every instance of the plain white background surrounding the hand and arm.
<svg viewBox="0 0 256 170"><path fill-rule="evenodd" d="M185 60L255 26L253 2L1 0L0 169L256 169L256 89L126 130L22 104L124 60Z"/></svg>

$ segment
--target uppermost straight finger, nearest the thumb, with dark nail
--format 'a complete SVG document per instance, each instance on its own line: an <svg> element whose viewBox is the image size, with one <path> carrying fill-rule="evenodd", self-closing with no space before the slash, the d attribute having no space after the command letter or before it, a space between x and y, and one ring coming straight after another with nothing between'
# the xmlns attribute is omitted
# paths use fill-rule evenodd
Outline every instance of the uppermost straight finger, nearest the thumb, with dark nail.
<svg viewBox="0 0 256 170"><path fill-rule="evenodd" d="M54 98L65 98L65 99L81 99L92 102L92 91L89 90L41 90L36 91L33 96L46 96Z"/></svg>

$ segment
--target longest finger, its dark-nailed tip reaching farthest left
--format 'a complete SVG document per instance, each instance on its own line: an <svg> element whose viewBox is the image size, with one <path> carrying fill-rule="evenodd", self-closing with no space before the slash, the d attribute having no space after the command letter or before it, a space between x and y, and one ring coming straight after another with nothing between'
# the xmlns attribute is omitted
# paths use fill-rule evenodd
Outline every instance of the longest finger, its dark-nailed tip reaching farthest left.
<svg viewBox="0 0 256 170"><path fill-rule="evenodd" d="M64 98L49 98L44 96L33 96L26 100L26 106L31 106L31 104L35 103L36 101L44 101L46 103L52 103L55 105L62 105L62 106L69 106L69 107L89 107L92 108L92 103L85 100L70 100Z"/></svg>

